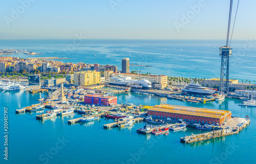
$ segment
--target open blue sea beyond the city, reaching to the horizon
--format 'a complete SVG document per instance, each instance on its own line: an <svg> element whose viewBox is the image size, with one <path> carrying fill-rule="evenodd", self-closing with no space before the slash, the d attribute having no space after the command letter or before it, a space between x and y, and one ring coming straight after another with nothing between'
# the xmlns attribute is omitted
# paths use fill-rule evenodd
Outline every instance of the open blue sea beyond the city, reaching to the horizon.
<svg viewBox="0 0 256 164"><path fill-rule="evenodd" d="M61 60L65 63L113 64L121 70L121 59L130 58L131 64L152 66L131 66L131 70L141 70L141 73L198 78L220 77L218 47L224 44L225 40L0 40L1 49L27 49L42 53L36 57L71 58ZM234 40L231 47L229 77L253 83L256 41ZM15 56L31 57L25 54Z"/></svg>

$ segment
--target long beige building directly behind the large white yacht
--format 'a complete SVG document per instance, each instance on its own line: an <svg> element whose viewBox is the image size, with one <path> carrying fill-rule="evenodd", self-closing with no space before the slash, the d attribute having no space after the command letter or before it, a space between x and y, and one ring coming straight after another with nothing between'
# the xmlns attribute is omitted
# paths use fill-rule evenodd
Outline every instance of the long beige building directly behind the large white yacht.
<svg viewBox="0 0 256 164"><path fill-rule="evenodd" d="M118 76L119 73L112 73L114 76ZM141 75L141 74L132 74L132 73L120 73L122 76L132 77L134 80L146 79L150 81L155 88L163 89L167 86L167 76L165 75Z"/></svg>

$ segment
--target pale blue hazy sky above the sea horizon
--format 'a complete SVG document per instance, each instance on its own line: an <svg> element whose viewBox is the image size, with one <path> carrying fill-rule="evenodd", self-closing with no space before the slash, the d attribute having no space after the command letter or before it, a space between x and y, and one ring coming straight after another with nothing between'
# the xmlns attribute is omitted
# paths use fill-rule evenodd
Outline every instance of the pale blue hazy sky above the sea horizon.
<svg viewBox="0 0 256 164"><path fill-rule="evenodd" d="M28 1L27 6L21 3ZM230 3L227 0L0 2L2 39L73 39L75 34L92 39L225 39ZM233 16L237 2L233 2ZM256 1L240 1L233 39L255 39L255 6Z"/></svg>

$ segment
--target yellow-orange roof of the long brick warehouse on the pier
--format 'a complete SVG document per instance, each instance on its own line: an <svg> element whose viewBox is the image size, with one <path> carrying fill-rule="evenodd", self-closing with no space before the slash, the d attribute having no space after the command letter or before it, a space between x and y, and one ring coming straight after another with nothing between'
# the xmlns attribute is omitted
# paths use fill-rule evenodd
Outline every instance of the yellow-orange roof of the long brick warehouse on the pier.
<svg viewBox="0 0 256 164"><path fill-rule="evenodd" d="M230 111L224 111L224 110L212 110L212 109L200 108L200 107L179 106L179 105L169 105L169 104L155 105L154 107L149 108L148 111L166 112L166 113L200 116L200 117L208 117L208 118L218 118L218 119L231 113Z"/></svg>

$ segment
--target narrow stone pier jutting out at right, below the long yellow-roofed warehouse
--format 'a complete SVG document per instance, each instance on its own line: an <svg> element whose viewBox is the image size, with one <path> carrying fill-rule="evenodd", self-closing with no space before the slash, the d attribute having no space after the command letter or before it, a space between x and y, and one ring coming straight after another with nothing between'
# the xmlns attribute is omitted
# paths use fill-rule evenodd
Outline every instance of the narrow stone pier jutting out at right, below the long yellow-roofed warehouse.
<svg viewBox="0 0 256 164"><path fill-rule="evenodd" d="M237 127L229 127L229 128L223 128L221 130L213 130L210 132L205 132L205 133L200 133L200 134L192 134L189 136L183 136L180 138L180 141L182 143L189 144L189 143L219 138L221 136L237 134L237 133L241 132L244 128L246 128L249 124L250 124L250 120L246 119L246 121L244 121L239 126L237 125Z"/></svg>

